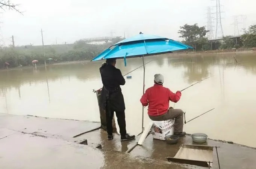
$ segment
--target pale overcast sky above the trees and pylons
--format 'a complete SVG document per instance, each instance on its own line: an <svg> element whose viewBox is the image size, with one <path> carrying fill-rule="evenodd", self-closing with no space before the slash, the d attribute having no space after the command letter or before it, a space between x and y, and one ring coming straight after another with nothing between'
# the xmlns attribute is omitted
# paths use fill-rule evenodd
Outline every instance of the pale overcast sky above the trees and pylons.
<svg viewBox="0 0 256 169"><path fill-rule="evenodd" d="M207 25L207 7L212 0L11 0L23 15L1 11L0 38L5 45L51 45L110 36L147 34L182 40L177 33L184 24ZM246 2L246 3L245 3ZM256 24L255 0L220 0L224 35L234 34L233 16L246 15L246 27ZM212 12L215 12L213 8ZM213 14L215 16L216 14ZM238 22L242 19L238 18ZM215 22L214 24L215 25ZM244 24L239 24L239 30ZM215 29L215 28L214 28ZM242 33L242 32L241 32ZM2 37L1 37L2 36Z"/></svg>

